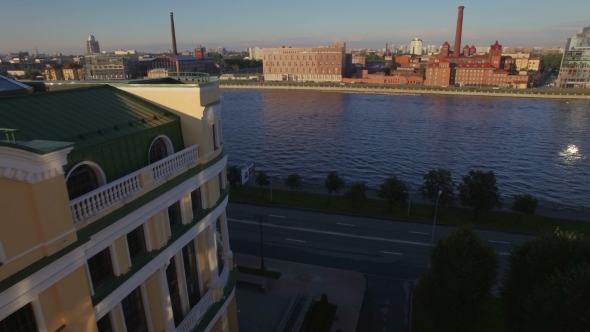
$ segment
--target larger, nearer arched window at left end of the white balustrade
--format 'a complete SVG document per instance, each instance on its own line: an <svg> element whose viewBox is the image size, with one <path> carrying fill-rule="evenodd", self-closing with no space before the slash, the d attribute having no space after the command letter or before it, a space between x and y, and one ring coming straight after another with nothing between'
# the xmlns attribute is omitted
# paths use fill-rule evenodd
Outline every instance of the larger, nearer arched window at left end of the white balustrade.
<svg viewBox="0 0 590 332"><path fill-rule="evenodd" d="M83 162L70 171L66 177L66 187L70 200L87 194L105 183L104 173L93 163Z"/></svg>

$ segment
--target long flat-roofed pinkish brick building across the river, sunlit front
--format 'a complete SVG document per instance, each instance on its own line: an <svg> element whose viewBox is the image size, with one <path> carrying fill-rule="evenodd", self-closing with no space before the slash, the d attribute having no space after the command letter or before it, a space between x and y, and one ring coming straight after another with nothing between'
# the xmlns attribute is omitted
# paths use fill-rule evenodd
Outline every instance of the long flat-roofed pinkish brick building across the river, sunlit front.
<svg viewBox="0 0 590 332"><path fill-rule="evenodd" d="M346 43L332 47L264 48L266 81L340 82L346 68Z"/></svg>

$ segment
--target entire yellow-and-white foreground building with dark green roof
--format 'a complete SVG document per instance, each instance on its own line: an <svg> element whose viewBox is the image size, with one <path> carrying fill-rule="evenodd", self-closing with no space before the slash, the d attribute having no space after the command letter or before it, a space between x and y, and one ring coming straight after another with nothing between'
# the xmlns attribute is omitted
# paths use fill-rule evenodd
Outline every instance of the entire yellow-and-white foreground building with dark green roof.
<svg viewBox="0 0 590 332"><path fill-rule="evenodd" d="M219 85L178 83L0 97L0 331L238 330Z"/></svg>

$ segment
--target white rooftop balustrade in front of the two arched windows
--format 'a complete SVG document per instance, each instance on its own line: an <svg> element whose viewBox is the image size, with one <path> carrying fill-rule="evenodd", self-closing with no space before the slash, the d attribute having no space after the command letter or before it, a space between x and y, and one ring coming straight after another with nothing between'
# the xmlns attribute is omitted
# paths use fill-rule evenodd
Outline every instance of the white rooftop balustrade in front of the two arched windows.
<svg viewBox="0 0 590 332"><path fill-rule="evenodd" d="M148 165L136 172L71 200L70 208L72 209L74 222L79 223L84 221L111 205L121 202L143 190L140 175L145 172L151 172L153 181L157 182L185 167L197 163L199 160L198 147L198 145L188 147L156 163Z"/></svg>

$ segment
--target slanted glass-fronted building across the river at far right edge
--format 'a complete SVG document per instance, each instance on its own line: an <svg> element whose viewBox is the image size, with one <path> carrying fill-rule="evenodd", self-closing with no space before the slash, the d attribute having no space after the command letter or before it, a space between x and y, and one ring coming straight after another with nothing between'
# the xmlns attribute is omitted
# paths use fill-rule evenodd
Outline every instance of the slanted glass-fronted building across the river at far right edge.
<svg viewBox="0 0 590 332"><path fill-rule="evenodd" d="M556 85L560 88L590 89L590 27L568 38Z"/></svg>

